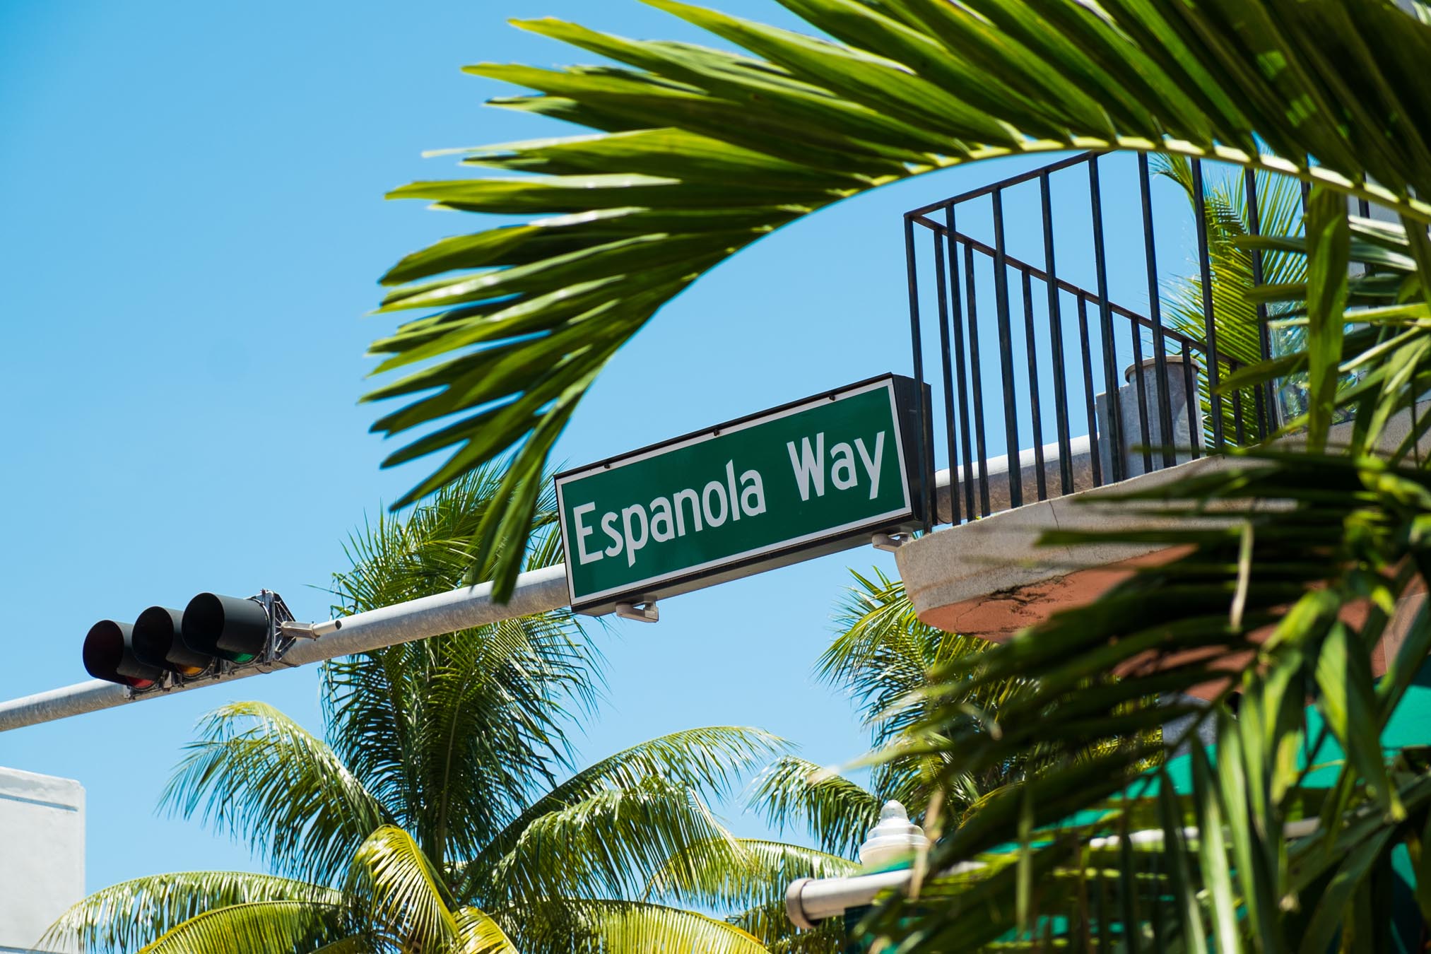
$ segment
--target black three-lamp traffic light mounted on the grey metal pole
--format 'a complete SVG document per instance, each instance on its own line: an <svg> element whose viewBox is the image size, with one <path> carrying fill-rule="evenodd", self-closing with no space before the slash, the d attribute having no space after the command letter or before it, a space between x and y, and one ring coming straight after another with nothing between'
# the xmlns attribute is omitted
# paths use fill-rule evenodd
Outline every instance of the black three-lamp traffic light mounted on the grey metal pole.
<svg viewBox="0 0 1431 954"><path fill-rule="evenodd" d="M199 594L182 611L150 606L133 624L102 619L84 636L84 669L96 679L150 689L233 667L278 659L293 642L283 598Z"/></svg>

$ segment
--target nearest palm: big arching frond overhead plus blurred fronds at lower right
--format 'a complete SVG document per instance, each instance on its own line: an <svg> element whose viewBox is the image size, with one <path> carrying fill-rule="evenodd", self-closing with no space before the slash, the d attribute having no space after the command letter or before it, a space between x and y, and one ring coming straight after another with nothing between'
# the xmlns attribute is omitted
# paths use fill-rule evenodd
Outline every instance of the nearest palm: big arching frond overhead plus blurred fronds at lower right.
<svg viewBox="0 0 1431 954"><path fill-rule="evenodd" d="M465 162L492 176L391 193L534 216L446 239L384 279L385 310L431 310L373 343L384 372L422 362L369 395L416 396L375 428L455 415L389 459L452 451L409 498L519 445L511 502L482 522L474 551L508 592L535 478L610 356L714 265L866 189L1066 149L1213 159L1311 183L1298 235L1242 240L1304 256L1304 282L1256 300L1301 322L1305 349L1225 383L1231 393L1305 373L1307 410L1288 422L1305 441L1129 496L1163 518L1216 503L1222 522L1152 523L1141 539L1175 559L950 664L947 688L912 702L913 741L890 758L923 747L943 759L939 791L1017 758L1055 771L1005 787L957 828L933 825L932 871L986 867L930 880L917 903L892 898L869 933L902 951L1388 950L1378 911L1392 855L1405 845L1421 867L1431 835L1424 754L1382 748L1431 648L1424 611L1398 634L1387 677L1371 678L1398 601L1431 571L1420 455L1431 416L1417 403L1431 386L1425 6L784 0L826 40L650 1L743 51L524 23L608 64L469 70L537 90L499 106L594 132L472 150ZM1347 196L1404 227L1349 222ZM1352 256L1375 273L1348 279ZM1341 446L1338 413L1354 415ZM1000 707L999 732L983 731L964 698L1009 678L1027 684ZM1216 729L1216 755L1193 747L1146 775L1153 745L1125 739L1168 712L1133 704L1209 681L1216 701L1242 698L1236 719L1216 704L1195 712ZM1324 757L1332 784L1308 784Z"/></svg>

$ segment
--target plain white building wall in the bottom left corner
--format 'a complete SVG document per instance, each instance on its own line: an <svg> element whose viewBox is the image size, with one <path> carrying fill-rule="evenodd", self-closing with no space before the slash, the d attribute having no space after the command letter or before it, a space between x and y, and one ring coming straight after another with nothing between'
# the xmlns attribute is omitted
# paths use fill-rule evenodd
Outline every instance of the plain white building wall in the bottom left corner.
<svg viewBox="0 0 1431 954"><path fill-rule="evenodd" d="M84 897L84 788L0 768L0 954L30 954Z"/></svg>

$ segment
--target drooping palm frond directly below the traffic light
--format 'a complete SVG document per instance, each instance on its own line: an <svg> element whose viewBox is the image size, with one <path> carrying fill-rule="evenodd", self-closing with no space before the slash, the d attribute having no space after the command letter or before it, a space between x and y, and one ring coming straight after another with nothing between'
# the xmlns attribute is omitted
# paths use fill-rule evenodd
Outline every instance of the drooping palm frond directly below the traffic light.
<svg viewBox="0 0 1431 954"><path fill-rule="evenodd" d="M248 840L279 874L329 882L388 821L333 749L265 702L215 709L186 748L162 804Z"/></svg>

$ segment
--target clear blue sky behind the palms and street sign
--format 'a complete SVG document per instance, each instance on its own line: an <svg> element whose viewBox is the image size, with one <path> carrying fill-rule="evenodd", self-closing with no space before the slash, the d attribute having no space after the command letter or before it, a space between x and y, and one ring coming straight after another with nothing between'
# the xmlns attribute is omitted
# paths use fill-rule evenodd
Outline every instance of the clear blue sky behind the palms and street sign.
<svg viewBox="0 0 1431 954"><path fill-rule="evenodd" d="M716 6L794 24L764 0ZM205 589L268 586L299 618L328 616L345 535L421 476L379 469L391 448L356 403L363 350L395 323L365 316L376 277L479 225L382 193L464 174L422 150L561 132L485 109L504 87L459 66L594 59L511 29L514 16L698 39L634 0L0 4L0 698L87 678L79 646L93 621ZM621 352L562 458L907 372L900 213L1032 164L890 186L736 256ZM1026 220L1032 206L1012 202ZM1115 296L1138 306L1141 237L1119 202ZM1161 257L1179 256L1173 243ZM594 629L610 702L582 757L708 724L764 727L821 762L859 755L849 701L811 675L846 566L893 561L851 551L673 599L654 626ZM319 728L316 671L293 671L7 732L0 765L84 784L90 888L253 867L242 847L155 811L195 721L235 698Z"/></svg>

